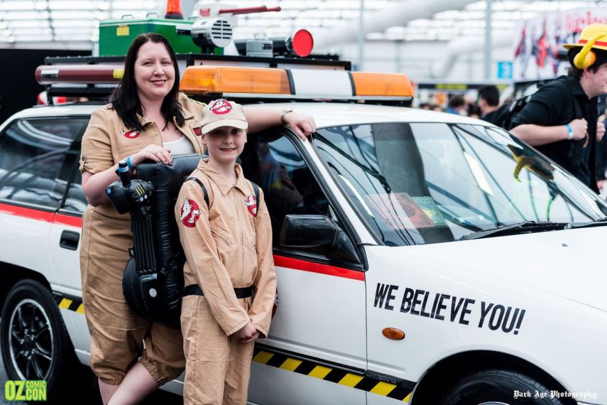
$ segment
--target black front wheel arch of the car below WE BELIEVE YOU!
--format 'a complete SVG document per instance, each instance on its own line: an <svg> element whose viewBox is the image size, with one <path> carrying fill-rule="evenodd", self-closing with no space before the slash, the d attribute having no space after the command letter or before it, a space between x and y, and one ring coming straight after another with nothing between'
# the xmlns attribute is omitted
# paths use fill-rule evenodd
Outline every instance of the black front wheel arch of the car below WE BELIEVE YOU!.
<svg viewBox="0 0 607 405"><path fill-rule="evenodd" d="M537 379L549 389L559 392L567 391L552 375L527 360L503 352L474 350L446 357L432 366L415 387L412 405L438 404L442 392L437 390L437 387L448 388L457 380L486 369L508 369L520 372ZM563 400L568 405L576 404L572 399Z"/></svg>

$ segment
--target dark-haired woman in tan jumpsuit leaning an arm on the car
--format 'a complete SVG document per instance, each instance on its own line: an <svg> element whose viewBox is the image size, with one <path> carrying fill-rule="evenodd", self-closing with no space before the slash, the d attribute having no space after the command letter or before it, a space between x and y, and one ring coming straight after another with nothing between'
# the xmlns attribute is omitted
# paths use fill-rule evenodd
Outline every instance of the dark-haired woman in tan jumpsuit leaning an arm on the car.
<svg viewBox="0 0 607 405"><path fill-rule="evenodd" d="M185 367L180 331L139 317L124 300L122 273L133 244L130 217L119 215L105 194L118 179L121 159L132 170L147 159L171 163L172 153L202 153L203 106L180 94L178 86L177 60L168 41L155 33L138 36L111 103L92 114L82 139L80 171L89 201L80 249L82 301L91 335L90 365L104 404L137 403ZM251 131L281 121L302 139L315 131L311 117L294 112L245 114Z"/></svg>

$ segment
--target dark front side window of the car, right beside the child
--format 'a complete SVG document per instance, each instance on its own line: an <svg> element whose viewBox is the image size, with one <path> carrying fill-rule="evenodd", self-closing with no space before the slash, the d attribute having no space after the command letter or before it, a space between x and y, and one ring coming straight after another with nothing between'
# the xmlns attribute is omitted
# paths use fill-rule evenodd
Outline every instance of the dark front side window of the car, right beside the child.
<svg viewBox="0 0 607 405"><path fill-rule="evenodd" d="M284 137L249 137L241 162L246 177L258 184L270 213L273 246L280 247L285 215L327 215L329 200L292 142ZM333 218L339 225L339 221ZM343 229L343 227L342 227ZM300 249L322 254L322 248Z"/></svg>

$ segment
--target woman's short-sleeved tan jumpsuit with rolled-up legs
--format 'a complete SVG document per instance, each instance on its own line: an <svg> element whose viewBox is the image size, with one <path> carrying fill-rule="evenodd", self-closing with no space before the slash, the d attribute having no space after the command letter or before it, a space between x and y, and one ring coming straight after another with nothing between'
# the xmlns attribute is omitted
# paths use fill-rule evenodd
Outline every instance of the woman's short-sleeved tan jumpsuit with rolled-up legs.
<svg viewBox="0 0 607 405"><path fill-rule="evenodd" d="M185 124L177 128L201 153L197 134L203 106L185 95L180 95L179 102ZM82 138L80 171L99 173L148 144L162 146L158 126L143 117L140 120L143 131L133 133L124 127L111 104L93 112ZM90 365L103 382L117 385L141 356L141 364L158 384L164 384L179 377L185 367L182 335L180 330L141 318L128 308L122 274L130 247L130 215L120 215L110 202L87 207L82 218L80 270L91 335Z"/></svg>

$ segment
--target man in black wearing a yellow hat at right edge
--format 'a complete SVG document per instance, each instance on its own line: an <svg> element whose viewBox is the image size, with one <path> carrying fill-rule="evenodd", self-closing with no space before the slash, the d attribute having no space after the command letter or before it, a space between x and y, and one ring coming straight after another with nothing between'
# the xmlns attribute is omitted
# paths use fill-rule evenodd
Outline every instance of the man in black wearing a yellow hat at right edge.
<svg viewBox="0 0 607 405"><path fill-rule="evenodd" d="M564 48L569 75L541 87L515 115L510 131L598 191L597 181L605 178L603 154L597 153L605 134L597 98L607 94L607 25L586 26L578 43Z"/></svg>

